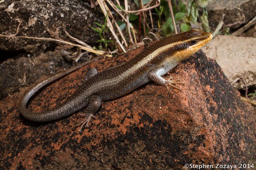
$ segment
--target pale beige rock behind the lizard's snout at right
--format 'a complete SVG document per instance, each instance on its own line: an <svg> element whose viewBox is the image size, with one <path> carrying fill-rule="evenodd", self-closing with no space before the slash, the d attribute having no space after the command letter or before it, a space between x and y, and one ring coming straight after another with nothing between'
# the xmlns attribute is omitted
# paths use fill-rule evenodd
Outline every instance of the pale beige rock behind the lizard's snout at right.
<svg viewBox="0 0 256 170"><path fill-rule="evenodd" d="M248 87L256 88L256 38L217 35L203 51L221 66L232 82L243 78ZM237 89L245 89L243 81L233 84Z"/></svg>

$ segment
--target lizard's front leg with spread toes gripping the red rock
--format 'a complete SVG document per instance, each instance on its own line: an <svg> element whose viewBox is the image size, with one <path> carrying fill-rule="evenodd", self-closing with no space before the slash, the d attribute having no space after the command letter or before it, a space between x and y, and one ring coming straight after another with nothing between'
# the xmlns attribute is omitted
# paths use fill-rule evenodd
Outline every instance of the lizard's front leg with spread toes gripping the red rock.
<svg viewBox="0 0 256 170"><path fill-rule="evenodd" d="M152 68L150 71L148 71L147 76L152 81L162 86L166 86L168 91L169 91L169 87L168 87L169 85L172 86L173 88L181 90L180 88L174 86L173 84L184 84L184 83L181 82L180 80L171 80L172 77L168 80L165 80L164 78L161 77L163 72L165 72L165 66L156 66Z"/></svg>

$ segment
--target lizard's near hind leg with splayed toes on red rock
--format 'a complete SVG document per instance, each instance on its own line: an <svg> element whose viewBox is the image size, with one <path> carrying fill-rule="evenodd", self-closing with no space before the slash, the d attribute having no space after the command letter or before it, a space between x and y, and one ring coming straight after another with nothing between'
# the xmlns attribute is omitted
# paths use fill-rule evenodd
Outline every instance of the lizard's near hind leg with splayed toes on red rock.
<svg viewBox="0 0 256 170"><path fill-rule="evenodd" d="M92 95L88 99L89 99L89 104L87 107L87 113L80 115L82 117L85 117L85 119L78 125L78 126L81 125L79 132L82 132L82 128L85 124L86 124L87 128L89 127L89 122L90 122L91 118L94 118L94 114L97 112L97 110L101 106L102 100L99 96Z"/></svg>

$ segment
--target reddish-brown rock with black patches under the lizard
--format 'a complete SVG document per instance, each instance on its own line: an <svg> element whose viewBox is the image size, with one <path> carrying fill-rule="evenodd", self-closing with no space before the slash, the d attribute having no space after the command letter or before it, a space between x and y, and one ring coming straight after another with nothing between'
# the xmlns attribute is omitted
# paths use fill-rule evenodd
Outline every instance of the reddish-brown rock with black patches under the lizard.
<svg viewBox="0 0 256 170"><path fill-rule="evenodd" d="M148 48L150 45L148 45ZM103 58L47 86L29 108L40 112L65 101L88 68L134 57ZM79 134L75 115L48 123L23 118L17 105L26 89L0 101L0 169L181 169L186 163L255 161L255 120L218 64L200 50L166 75L182 91L148 83L102 103L97 119Z"/></svg>

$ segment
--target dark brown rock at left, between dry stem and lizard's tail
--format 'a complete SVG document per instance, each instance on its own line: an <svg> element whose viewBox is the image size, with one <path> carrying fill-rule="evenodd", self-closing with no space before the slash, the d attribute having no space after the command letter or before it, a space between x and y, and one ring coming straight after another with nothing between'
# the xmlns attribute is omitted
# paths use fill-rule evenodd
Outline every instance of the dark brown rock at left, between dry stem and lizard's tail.
<svg viewBox="0 0 256 170"><path fill-rule="evenodd" d="M79 62L83 62L82 57ZM56 72L74 66L74 62L61 56L60 50L48 51L37 56L20 54L0 63L0 100L19 91L24 86L31 86L40 77L56 74Z"/></svg>

